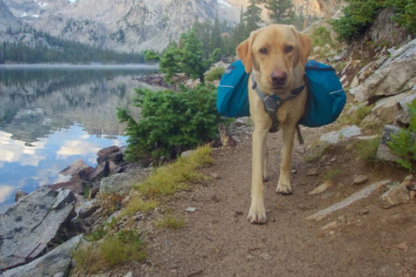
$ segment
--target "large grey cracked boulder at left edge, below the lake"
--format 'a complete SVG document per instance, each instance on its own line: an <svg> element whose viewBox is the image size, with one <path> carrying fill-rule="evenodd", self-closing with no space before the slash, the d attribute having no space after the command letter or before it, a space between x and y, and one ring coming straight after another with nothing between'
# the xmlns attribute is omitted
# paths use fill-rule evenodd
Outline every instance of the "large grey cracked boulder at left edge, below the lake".
<svg viewBox="0 0 416 277"><path fill-rule="evenodd" d="M30 262L47 249L61 225L73 216L73 193L40 187L0 214L1 269Z"/></svg>

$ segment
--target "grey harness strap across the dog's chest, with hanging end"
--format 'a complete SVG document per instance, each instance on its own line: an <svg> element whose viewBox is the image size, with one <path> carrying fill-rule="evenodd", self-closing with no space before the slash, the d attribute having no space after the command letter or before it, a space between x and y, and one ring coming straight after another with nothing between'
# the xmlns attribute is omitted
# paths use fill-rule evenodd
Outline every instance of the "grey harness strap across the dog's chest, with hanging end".
<svg viewBox="0 0 416 277"><path fill-rule="evenodd" d="M252 74L252 89L255 90L255 92L257 93L261 101L263 102L264 110L266 111L266 113L268 113L268 116L271 118L272 125L270 129L268 130L268 132L271 132L271 133L278 132L279 120L278 120L277 112L278 112L278 109L280 108L280 105L282 105L287 100L293 99L294 97L298 97L299 94L301 94L301 92L305 88L305 86L306 86L306 83L292 90L292 92L290 92L289 97L282 99L278 97L277 94L269 95L269 94L264 94L263 92L261 92L261 90L259 90L259 87L257 87L256 80L254 80L254 74ZM299 128L299 125L296 125L296 133L299 139L299 143L303 144L301 129Z"/></svg>

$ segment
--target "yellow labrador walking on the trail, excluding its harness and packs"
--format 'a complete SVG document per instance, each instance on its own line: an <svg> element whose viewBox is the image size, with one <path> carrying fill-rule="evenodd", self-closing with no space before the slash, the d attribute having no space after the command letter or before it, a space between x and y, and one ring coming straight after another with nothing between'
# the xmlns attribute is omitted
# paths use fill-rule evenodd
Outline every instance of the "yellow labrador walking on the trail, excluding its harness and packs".
<svg viewBox="0 0 416 277"><path fill-rule="evenodd" d="M266 112L263 101L254 90L273 96L281 103L275 112L278 129L282 129L280 178L276 192L291 194L290 173L292 148L296 124L303 115L307 89L305 85L305 64L311 49L309 36L293 26L271 24L257 31L237 47L245 71L251 72L248 84L250 114L254 123L252 134L252 202L248 220L265 223L263 180L266 180L267 145L266 136L272 127L271 115ZM300 88L300 91L299 91ZM298 89L296 95L294 90Z"/></svg>

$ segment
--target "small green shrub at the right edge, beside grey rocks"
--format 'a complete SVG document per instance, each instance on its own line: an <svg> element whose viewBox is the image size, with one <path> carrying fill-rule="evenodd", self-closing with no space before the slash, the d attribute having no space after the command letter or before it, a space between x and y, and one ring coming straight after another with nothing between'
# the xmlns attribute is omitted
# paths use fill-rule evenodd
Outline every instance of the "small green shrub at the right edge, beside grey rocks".
<svg viewBox="0 0 416 277"><path fill-rule="evenodd" d="M408 106L412 115L409 127L401 128L397 135L392 134L392 141L389 141L388 145L391 152L400 157L397 162L414 172L416 169L416 99Z"/></svg>

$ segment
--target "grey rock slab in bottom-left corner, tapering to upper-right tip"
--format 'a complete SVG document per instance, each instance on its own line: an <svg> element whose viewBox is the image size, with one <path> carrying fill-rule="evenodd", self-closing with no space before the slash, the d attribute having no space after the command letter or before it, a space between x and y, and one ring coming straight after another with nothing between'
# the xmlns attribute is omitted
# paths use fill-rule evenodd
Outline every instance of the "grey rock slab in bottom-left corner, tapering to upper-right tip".
<svg viewBox="0 0 416 277"><path fill-rule="evenodd" d="M42 257L21 267L4 272L1 276L31 277L31 276L66 276L72 260L73 250L80 243L83 235L74 236Z"/></svg>

